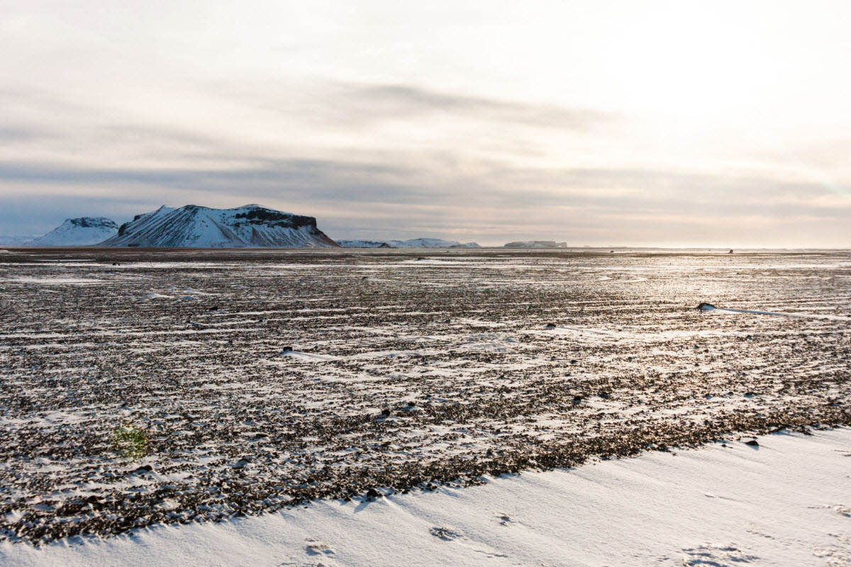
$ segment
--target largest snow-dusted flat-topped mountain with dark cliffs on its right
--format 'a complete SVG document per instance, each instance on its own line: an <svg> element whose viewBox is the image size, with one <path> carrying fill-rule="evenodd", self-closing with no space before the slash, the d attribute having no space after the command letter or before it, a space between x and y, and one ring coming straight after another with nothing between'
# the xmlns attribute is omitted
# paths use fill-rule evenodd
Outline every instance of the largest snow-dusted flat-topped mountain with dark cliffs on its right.
<svg viewBox="0 0 851 567"><path fill-rule="evenodd" d="M105 247L329 248L337 243L317 229L317 219L260 205L214 209L160 207L121 225Z"/></svg>

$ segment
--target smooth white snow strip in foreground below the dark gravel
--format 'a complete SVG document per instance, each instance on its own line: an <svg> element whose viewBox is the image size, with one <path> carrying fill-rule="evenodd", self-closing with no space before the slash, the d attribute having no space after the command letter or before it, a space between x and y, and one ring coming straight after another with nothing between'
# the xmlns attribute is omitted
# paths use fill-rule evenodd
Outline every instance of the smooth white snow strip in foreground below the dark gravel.
<svg viewBox="0 0 851 567"><path fill-rule="evenodd" d="M108 540L5 542L0 564L851 564L851 429L745 440Z"/></svg>

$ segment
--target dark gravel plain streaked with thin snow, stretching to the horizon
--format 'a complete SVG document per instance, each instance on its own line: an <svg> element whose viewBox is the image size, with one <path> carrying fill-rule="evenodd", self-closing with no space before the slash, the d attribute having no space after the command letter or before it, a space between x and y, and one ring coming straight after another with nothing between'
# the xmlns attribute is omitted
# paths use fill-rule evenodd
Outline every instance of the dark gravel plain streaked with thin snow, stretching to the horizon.
<svg viewBox="0 0 851 567"><path fill-rule="evenodd" d="M851 424L848 252L13 249L0 321L11 541Z"/></svg>

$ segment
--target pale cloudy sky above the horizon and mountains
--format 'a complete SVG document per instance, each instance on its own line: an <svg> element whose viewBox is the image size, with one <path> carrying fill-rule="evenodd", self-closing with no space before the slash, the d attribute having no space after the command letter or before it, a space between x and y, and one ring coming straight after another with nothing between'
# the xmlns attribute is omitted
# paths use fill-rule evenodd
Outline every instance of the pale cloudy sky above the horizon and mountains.
<svg viewBox="0 0 851 567"><path fill-rule="evenodd" d="M0 0L0 235L851 247L844 0Z"/></svg>

